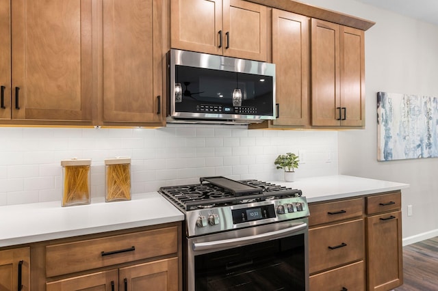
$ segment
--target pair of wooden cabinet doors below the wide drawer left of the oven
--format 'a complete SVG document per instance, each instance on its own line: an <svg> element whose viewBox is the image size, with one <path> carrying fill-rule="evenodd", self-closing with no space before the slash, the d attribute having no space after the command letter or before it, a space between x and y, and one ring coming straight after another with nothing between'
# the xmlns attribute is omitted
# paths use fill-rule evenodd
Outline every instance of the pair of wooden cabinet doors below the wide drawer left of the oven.
<svg viewBox="0 0 438 291"><path fill-rule="evenodd" d="M178 258L70 277L47 283L47 291L178 290Z"/></svg>

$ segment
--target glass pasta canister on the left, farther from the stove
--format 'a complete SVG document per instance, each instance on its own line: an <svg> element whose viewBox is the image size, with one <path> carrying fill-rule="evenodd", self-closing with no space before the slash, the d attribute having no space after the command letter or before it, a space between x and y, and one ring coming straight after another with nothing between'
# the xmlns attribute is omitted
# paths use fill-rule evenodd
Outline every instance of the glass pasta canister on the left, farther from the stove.
<svg viewBox="0 0 438 291"><path fill-rule="evenodd" d="M62 160L62 206L90 204L91 159Z"/></svg>

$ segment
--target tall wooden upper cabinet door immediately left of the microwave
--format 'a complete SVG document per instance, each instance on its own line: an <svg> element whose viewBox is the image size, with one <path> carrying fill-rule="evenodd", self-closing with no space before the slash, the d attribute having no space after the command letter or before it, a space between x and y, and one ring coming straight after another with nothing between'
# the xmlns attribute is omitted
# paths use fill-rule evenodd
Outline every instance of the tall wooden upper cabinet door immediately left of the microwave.
<svg viewBox="0 0 438 291"><path fill-rule="evenodd" d="M162 1L103 1L103 121L160 123Z"/></svg>

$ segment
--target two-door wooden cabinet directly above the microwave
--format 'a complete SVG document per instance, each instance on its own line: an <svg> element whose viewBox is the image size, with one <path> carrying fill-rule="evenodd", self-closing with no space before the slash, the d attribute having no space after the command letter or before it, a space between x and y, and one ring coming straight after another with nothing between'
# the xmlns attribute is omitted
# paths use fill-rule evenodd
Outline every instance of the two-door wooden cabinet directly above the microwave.
<svg viewBox="0 0 438 291"><path fill-rule="evenodd" d="M267 12L266 6L242 0L171 0L170 45L266 61Z"/></svg>

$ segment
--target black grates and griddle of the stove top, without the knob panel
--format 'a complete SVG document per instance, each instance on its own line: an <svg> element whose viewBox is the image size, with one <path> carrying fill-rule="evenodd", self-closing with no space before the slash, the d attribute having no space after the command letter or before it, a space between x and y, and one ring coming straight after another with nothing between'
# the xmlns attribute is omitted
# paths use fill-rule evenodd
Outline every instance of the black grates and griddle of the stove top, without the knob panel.
<svg viewBox="0 0 438 291"><path fill-rule="evenodd" d="M164 197L180 210L231 206L285 197L300 197L302 192L259 180L230 180L224 177L200 178L200 184L164 186Z"/></svg>

